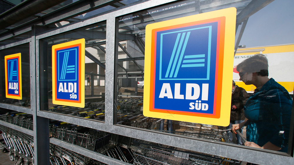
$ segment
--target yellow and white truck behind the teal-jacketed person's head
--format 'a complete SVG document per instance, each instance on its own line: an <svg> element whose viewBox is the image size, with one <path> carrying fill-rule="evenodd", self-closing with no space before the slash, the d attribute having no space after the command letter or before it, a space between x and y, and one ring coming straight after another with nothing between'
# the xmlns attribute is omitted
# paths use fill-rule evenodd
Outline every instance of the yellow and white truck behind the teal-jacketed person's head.
<svg viewBox="0 0 294 165"><path fill-rule="evenodd" d="M239 80L236 66L243 60L262 53L268 58L268 77L275 79L293 95L294 89L294 44L263 47L238 48L234 57L233 80L248 93L254 92L254 85L245 85Z"/></svg>

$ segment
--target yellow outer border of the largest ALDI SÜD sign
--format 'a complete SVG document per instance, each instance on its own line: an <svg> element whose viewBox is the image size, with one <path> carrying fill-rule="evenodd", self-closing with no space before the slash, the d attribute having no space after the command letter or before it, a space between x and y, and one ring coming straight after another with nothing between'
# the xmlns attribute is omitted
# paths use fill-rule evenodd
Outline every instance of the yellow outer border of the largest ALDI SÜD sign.
<svg viewBox="0 0 294 165"><path fill-rule="evenodd" d="M212 18L225 17L225 32L221 34L223 36L223 77L221 85L221 100L220 100L220 117L208 118L199 116L188 116L179 114L167 114L162 112L153 112L152 101L150 100L151 88L151 50L152 50L152 30L156 28L162 28L167 26L174 26L184 23L190 23L195 21L202 21ZM195 122L201 124L212 124L219 126L228 126L230 122L230 105L231 105L231 89L233 79L233 60L234 60L234 43L235 43L235 26L236 26L236 8L227 8L217 11L211 11L203 14L196 14L192 16L186 16L182 18L176 18L168 21L162 21L158 23L148 24L146 26L146 38L145 38L145 70L144 70L144 105L143 115L147 117L155 117L161 119L170 119L186 122ZM228 74L225 74L228 73Z"/></svg>

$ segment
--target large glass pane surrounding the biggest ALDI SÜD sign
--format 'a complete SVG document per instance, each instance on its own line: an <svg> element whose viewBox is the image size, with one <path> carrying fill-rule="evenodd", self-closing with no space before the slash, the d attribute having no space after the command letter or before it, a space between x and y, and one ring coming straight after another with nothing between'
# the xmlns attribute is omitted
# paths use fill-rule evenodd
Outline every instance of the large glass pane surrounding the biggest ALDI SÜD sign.
<svg viewBox="0 0 294 165"><path fill-rule="evenodd" d="M142 58L145 54L146 25L173 18L235 7L237 9L238 25L236 27L238 28L236 29L233 80L235 80L236 85L243 87L244 90L236 90L235 92L238 91L238 96L232 97L231 107L233 115L231 115L231 123L240 123L246 117L246 120L249 119L249 121L245 127L242 127L243 131L241 131L245 138L247 135L247 139L257 143L259 147L287 152L289 132L293 132L293 130L289 130L292 107L291 97L293 97L294 88L294 73L292 72L294 66L294 60L292 60L292 56L294 55L294 36L292 30L294 28L294 20L292 19L294 11L290 7L294 5L293 3L290 0L276 0L264 8L259 9L258 4L250 0L230 1L228 3L224 1L199 1L197 3L195 1L181 1L118 17L119 42L117 45L118 63L116 64L118 68L117 124L242 144L243 142L239 136L237 136L237 140L236 135L230 133L231 126L220 127L217 125L145 117L143 116L142 108L142 89L144 87L144 63ZM253 15L244 16L245 10L252 11ZM244 19L242 19L243 17ZM246 19L248 17L249 19ZM238 22L240 19L243 21ZM275 23L275 21L278 21L278 23ZM246 48L245 45L250 46L250 48ZM268 69L264 69L269 72L269 76L265 76L268 78L266 80L275 78L282 86L276 85L280 92L273 93L272 91L268 91L270 94L265 95L269 98L268 101L257 99L260 102L254 112L260 112L260 116L255 119L252 117L254 114L250 112L250 106L254 102L252 97L258 97L260 99L261 96L253 94L253 92L256 88L255 86L265 88L266 86L263 86L265 83L258 84L261 80L258 79L258 82L256 82L253 79L245 85L242 82L243 79L239 77L241 73L238 72L240 70L236 70L236 66L256 53L266 54L265 57L268 60L269 66ZM284 69L285 67L287 68ZM245 70L242 71L245 72ZM259 71L256 71L255 75L259 76L257 78L260 78ZM265 77L261 77L265 79ZM255 77L253 76L253 78ZM273 80L268 81L268 83L271 81ZM234 88L232 87L232 95L235 95L233 90ZM267 92L267 90L264 92ZM257 90L255 90L255 93L257 93ZM282 100L277 100L278 96ZM249 97L250 99L248 99ZM275 110L273 107L275 107ZM259 127L262 128L262 131ZM252 137L253 134L259 137ZM258 138L262 140L259 141L257 140ZM267 142L275 146L268 147L269 143Z"/></svg>

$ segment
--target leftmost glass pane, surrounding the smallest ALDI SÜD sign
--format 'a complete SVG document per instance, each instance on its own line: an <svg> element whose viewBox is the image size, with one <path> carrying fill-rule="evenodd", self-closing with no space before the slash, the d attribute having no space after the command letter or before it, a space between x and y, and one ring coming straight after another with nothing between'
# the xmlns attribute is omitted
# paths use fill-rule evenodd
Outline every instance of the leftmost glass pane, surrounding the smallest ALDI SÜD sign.
<svg viewBox="0 0 294 165"><path fill-rule="evenodd" d="M5 94L5 65L4 57L21 53L21 83L22 83L22 100L6 98ZM0 50L1 58L1 93L0 99L2 103L18 105L22 107L31 107L31 87L30 87L30 47L29 43L14 46L11 48Z"/></svg>

